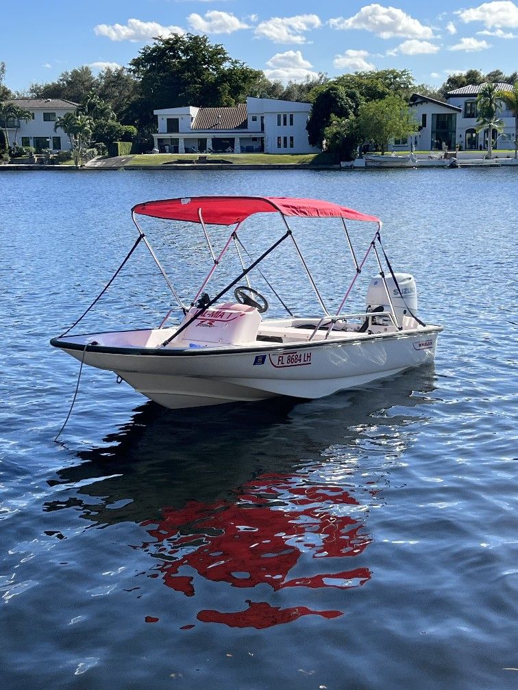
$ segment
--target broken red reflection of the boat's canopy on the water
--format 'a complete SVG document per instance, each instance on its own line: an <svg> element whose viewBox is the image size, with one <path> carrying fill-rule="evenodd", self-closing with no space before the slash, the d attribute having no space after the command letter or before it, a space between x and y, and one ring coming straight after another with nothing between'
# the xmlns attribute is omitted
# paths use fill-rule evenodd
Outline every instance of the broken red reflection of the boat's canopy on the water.
<svg viewBox="0 0 518 690"><path fill-rule="evenodd" d="M285 587L336 587L350 589L365 584L371 573L356 568L336 573L307 574L309 558L344 558L362 553L370 538L363 525L344 514L345 506L358 501L341 486L305 484L303 475L262 475L242 486L235 502L202 504L191 501L182 509L164 509L160 523L148 532L156 540L155 556L164 582L187 596L195 594L191 568L211 582L235 587L269 584ZM150 544L145 544L148 547ZM289 573L306 554L305 573ZM238 613L200 611L204 622L235 627L263 628L295 620L310 613L335 618L341 611L311 611L306 607L280 609L266 602L250 602Z"/></svg>

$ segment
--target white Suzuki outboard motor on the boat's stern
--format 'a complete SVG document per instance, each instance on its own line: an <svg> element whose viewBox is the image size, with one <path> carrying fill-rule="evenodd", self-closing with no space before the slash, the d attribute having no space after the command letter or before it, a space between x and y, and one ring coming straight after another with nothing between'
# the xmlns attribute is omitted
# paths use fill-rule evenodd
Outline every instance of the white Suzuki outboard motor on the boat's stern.
<svg viewBox="0 0 518 690"><path fill-rule="evenodd" d="M387 288L394 304L394 311L396 312L396 319L400 326L405 326L403 317L412 317L412 314L417 315L417 288L414 276L410 273L396 273L396 280L401 290L399 294L398 288L392 275L385 275ZM372 311L390 311L390 302L387 297L385 286L383 285L383 278L381 275L376 275L370 282L367 290L367 299L365 300L367 312ZM412 314L409 313L412 311ZM392 322L387 316L376 317L373 322L388 326Z"/></svg>

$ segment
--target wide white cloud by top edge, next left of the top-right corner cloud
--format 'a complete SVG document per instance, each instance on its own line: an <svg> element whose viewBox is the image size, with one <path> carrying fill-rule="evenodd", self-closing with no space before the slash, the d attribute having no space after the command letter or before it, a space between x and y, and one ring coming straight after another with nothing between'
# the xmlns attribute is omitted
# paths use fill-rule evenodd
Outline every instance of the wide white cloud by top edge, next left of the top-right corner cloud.
<svg viewBox="0 0 518 690"><path fill-rule="evenodd" d="M329 26L334 29L365 29L382 39L391 39L395 36L431 39L434 35L429 26L423 26L420 21L410 17L410 14L406 14L403 10L383 7L376 3L361 8L354 17L349 17L349 19L343 17L329 19Z"/></svg>

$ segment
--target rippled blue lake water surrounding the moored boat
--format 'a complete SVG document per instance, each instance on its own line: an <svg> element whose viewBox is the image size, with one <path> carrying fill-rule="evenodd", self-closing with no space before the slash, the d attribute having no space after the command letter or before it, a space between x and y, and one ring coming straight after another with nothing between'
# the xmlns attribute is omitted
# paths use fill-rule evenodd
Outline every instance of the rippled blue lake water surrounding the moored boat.
<svg viewBox="0 0 518 690"><path fill-rule="evenodd" d="M3 172L1 687L516 687L517 173ZM445 326L435 368L186 412L85 370L53 443L77 362L48 339L131 246L133 204L205 193L380 215ZM195 282L202 238L148 230ZM332 232L303 241L330 300L346 282ZM88 327L156 323L155 276L138 253Z"/></svg>

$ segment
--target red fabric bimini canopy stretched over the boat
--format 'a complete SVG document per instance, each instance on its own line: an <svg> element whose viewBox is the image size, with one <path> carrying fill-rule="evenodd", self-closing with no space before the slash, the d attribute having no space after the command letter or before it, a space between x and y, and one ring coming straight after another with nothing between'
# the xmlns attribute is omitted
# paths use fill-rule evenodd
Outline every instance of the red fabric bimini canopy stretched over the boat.
<svg viewBox="0 0 518 690"><path fill-rule="evenodd" d="M306 218L347 218L349 220L380 220L372 215L360 213L352 208L333 204L321 199L290 199L289 197L185 197L184 199L162 199L144 201L133 206L132 213L184 220L209 225L233 225L240 223L254 213L280 213L285 216Z"/></svg>

